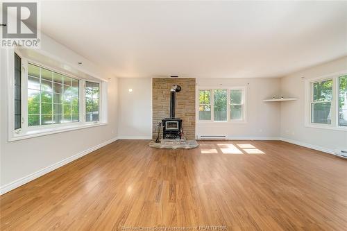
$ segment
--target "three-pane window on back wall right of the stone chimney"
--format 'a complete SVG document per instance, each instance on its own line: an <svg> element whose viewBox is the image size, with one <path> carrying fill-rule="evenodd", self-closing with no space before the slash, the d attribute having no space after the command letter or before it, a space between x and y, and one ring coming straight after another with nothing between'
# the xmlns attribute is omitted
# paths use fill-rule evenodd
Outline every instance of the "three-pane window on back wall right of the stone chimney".
<svg viewBox="0 0 347 231"><path fill-rule="evenodd" d="M245 87L231 89L199 89L198 121L243 123L245 114Z"/></svg>

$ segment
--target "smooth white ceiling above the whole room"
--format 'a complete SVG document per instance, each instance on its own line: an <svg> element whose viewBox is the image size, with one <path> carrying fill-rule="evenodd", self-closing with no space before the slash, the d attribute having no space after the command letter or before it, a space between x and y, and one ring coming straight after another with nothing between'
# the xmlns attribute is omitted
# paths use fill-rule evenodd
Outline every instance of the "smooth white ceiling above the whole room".
<svg viewBox="0 0 347 231"><path fill-rule="evenodd" d="M42 31L118 77L279 77L347 55L347 1L44 1Z"/></svg>

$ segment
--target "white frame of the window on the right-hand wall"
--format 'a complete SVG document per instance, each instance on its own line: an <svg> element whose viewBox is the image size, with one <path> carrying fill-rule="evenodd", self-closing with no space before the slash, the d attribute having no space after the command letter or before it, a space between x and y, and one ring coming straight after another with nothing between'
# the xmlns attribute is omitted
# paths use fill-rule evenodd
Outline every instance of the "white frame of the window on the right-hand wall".
<svg viewBox="0 0 347 231"><path fill-rule="evenodd" d="M347 130L347 126L339 126L339 77L346 76L347 70L334 74L305 80L305 127L330 130ZM312 123L313 84L332 80L331 123ZM322 103L322 102L320 102Z"/></svg>

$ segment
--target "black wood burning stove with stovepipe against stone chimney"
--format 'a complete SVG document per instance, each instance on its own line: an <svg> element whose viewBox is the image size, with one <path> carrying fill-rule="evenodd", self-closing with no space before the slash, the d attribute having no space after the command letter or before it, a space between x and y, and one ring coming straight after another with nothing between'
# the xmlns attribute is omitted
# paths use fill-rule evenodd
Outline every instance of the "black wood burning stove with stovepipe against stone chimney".
<svg viewBox="0 0 347 231"><path fill-rule="evenodd" d="M180 92L180 85L171 87L170 92L170 118L162 119L162 137L164 139L181 139L182 119L175 118L176 92Z"/></svg>

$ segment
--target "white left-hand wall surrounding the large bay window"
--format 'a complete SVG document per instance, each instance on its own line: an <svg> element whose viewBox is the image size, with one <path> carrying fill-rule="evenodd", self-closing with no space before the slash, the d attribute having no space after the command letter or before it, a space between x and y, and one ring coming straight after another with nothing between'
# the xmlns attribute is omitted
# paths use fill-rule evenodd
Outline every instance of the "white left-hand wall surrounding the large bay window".
<svg viewBox="0 0 347 231"><path fill-rule="evenodd" d="M8 60L1 49L1 93L0 93L0 160L1 160L1 191L7 191L13 187L25 183L28 180L45 173L46 168L54 164L74 157L78 153L90 150L90 148L105 144L117 137L117 78L107 74L92 62L58 44L50 37L42 35L42 52L64 60L71 67L78 61L83 62L83 67L78 69L108 79L108 125L85 128L53 135L22 139L8 142L8 112L7 112L7 67ZM57 166L57 165L56 165ZM46 170L44 170L46 169ZM30 177L28 177L30 176Z"/></svg>

